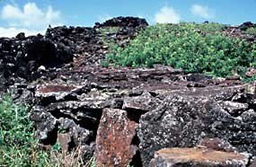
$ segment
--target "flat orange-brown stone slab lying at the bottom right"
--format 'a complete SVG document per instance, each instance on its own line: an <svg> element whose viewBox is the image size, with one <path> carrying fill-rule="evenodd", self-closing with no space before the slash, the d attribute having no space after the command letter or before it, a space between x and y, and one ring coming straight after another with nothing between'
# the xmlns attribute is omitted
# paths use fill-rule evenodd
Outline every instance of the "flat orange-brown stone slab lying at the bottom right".
<svg viewBox="0 0 256 167"><path fill-rule="evenodd" d="M165 148L155 152L150 167L243 167L249 159L243 154L204 148Z"/></svg>

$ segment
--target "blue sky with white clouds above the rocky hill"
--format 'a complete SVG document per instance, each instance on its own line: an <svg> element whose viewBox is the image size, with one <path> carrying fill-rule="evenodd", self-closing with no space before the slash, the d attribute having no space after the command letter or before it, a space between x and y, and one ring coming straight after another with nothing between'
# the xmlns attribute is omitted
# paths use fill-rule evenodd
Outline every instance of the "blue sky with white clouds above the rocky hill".
<svg viewBox="0 0 256 167"><path fill-rule="evenodd" d="M256 0L0 0L0 37L44 34L51 27L85 26L116 16L154 23L256 22Z"/></svg>

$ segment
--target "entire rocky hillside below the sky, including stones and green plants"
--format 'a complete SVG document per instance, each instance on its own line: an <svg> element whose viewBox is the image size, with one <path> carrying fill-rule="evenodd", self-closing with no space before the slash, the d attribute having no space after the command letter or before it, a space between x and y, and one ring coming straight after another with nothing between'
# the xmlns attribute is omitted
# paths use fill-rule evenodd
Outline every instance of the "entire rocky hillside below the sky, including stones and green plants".
<svg viewBox="0 0 256 167"><path fill-rule="evenodd" d="M250 166L256 156L252 22L117 17L0 38L0 55L0 166L22 147L13 166Z"/></svg>

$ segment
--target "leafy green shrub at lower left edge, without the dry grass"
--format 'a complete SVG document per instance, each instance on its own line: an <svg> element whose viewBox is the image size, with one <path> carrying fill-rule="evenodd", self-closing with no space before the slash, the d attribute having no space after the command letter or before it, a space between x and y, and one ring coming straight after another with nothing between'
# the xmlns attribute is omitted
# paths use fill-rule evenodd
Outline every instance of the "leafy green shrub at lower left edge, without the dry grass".
<svg viewBox="0 0 256 167"><path fill-rule="evenodd" d="M8 95L0 102L0 166L50 166L49 154L37 149L28 107Z"/></svg>

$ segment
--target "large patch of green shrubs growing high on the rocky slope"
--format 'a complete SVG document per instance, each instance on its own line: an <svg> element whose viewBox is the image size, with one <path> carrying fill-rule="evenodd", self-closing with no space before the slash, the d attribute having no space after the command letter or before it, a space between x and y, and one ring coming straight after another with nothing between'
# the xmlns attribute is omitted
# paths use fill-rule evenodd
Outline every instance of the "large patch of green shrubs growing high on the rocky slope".
<svg viewBox="0 0 256 167"><path fill-rule="evenodd" d="M256 45L229 38L222 34L223 29L218 23L156 24L141 31L128 47L111 47L102 65L163 64L188 73L224 77L256 66Z"/></svg>

